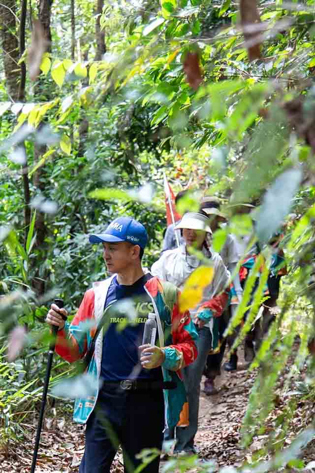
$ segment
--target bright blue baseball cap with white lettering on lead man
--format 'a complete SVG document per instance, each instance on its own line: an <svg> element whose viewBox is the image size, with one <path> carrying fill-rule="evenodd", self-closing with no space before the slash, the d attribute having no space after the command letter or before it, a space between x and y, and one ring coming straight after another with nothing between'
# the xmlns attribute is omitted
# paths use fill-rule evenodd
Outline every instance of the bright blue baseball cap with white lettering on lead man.
<svg viewBox="0 0 315 473"><path fill-rule="evenodd" d="M128 241L144 249L148 243L148 234L144 226L131 217L118 217L112 221L104 233L90 235L90 243L119 243Z"/></svg>

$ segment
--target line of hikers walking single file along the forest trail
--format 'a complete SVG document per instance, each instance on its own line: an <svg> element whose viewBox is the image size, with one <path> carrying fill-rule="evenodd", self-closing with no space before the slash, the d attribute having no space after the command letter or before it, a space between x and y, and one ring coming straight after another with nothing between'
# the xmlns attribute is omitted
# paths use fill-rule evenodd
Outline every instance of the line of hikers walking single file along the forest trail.
<svg viewBox="0 0 315 473"><path fill-rule="evenodd" d="M177 203L184 197L185 191L177 195ZM90 236L91 243L102 245L110 276L85 293L71 324L64 321L66 310L52 304L46 321L58 326L57 353L69 362L89 355L87 371L98 381L93 395L74 405L74 421L86 425L80 473L109 472L119 445L128 473L142 463L139 454L146 449L155 449L156 455L143 472L158 472L163 439L174 439L174 454L197 453L202 375L205 393L215 394L226 343L230 356L223 369L237 369L237 352L231 351L237 330L227 338L223 334L260 252L257 244L249 248L247 238L232 234L220 254L213 251L212 234L227 223L220 207L218 199L206 197L198 212L187 211L168 226L151 270L141 264L148 243L145 227L130 217L116 218L104 233ZM274 317L269 308L276 304L284 274L279 242L280 236L273 238L262 317L244 343L249 362ZM190 313L181 312L180 291L205 262L213 268L213 278L202 286L202 298ZM258 281L259 274L253 292ZM149 314L154 314L157 330L152 343L143 345Z"/></svg>

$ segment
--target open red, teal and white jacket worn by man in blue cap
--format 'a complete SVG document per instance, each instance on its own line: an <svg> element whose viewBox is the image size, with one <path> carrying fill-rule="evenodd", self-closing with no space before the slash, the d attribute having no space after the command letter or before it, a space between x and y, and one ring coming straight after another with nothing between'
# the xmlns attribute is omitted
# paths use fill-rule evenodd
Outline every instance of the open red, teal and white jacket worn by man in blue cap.
<svg viewBox="0 0 315 473"><path fill-rule="evenodd" d="M89 289L73 318L71 324L65 323L58 332L56 352L72 363L84 357L90 347L97 322L101 319L107 291L114 276L95 282ZM159 346L163 347L165 360L162 364L164 381L175 381L176 388L164 390L165 423L173 427L177 424L180 412L186 402L186 392L182 381L181 370L192 363L197 357L196 340L198 334L190 319L189 312L181 313L178 306L178 289L168 282L153 277L144 286L152 300L158 325ZM87 322L95 320L95 326L87 329ZM88 366L88 373L99 379L102 356L103 331L95 343L95 353ZM95 407L98 389L88 399L76 399L73 419L85 424Z"/></svg>

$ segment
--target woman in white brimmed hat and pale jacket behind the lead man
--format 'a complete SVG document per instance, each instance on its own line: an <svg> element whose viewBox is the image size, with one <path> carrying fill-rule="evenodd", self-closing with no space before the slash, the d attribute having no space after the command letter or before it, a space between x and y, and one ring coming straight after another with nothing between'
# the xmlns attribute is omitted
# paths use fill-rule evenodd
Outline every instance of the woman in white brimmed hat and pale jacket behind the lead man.
<svg viewBox="0 0 315 473"><path fill-rule="evenodd" d="M211 235L209 220L206 215L195 212L186 213L176 226L177 231L185 240L179 248L165 251L154 263L153 275L175 284L183 289L190 274L203 263L189 252L189 247L202 251L208 259L209 266L214 269L214 277L203 290L201 301L190 309L190 315L199 332L198 356L195 362L183 370L184 382L189 403L189 425L177 427L175 453L195 453L194 437L198 429L199 394L202 372L205 367L207 354L217 343L217 323L227 303L230 273L226 269L218 253L210 251L207 236Z"/></svg>

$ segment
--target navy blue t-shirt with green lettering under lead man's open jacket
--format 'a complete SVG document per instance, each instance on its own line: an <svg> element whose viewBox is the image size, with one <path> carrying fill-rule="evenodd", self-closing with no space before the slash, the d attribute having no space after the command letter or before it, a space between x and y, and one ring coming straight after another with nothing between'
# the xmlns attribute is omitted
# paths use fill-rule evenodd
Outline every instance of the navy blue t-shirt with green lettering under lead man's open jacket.
<svg viewBox="0 0 315 473"><path fill-rule="evenodd" d="M144 370L139 362L138 347L142 345L144 324L150 312L154 312L152 300L144 289L144 285L151 278L146 274L131 286L125 286L117 282L115 276L108 288L105 308L123 299L132 299L137 311L136 325L127 324L123 330L119 326L127 318L126 314L109 313L110 320L103 340L103 352L101 361L101 377L103 380L116 381L122 379L162 379L161 368ZM110 312L110 310L109 310ZM105 322L105 324L107 325Z"/></svg>

